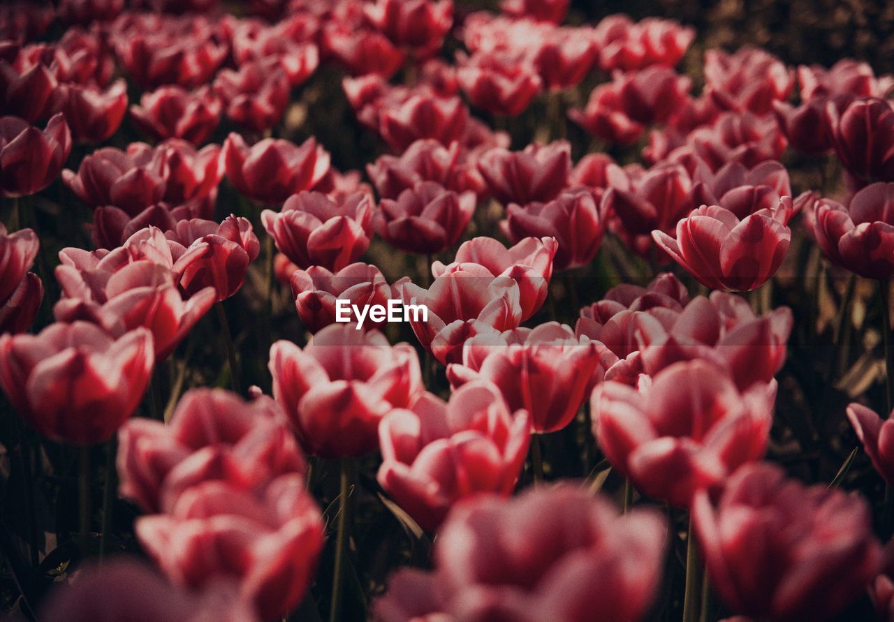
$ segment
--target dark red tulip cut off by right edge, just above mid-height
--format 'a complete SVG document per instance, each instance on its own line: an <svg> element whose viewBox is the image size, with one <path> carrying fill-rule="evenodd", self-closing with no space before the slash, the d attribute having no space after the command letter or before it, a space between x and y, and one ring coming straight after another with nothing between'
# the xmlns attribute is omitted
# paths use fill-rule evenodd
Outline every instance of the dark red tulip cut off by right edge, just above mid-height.
<svg viewBox="0 0 894 622"><path fill-rule="evenodd" d="M820 199L814 235L835 264L871 279L894 276L894 183L859 190L848 206Z"/></svg>

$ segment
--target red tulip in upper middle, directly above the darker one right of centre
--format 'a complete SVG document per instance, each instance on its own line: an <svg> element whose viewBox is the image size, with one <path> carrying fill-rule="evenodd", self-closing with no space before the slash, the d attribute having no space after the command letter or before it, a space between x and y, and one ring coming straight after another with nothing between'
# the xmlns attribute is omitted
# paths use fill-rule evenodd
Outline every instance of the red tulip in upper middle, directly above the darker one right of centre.
<svg viewBox="0 0 894 622"><path fill-rule="evenodd" d="M564 140L531 144L524 151L497 147L478 159L478 170L503 205L552 201L569 184L571 147Z"/></svg>

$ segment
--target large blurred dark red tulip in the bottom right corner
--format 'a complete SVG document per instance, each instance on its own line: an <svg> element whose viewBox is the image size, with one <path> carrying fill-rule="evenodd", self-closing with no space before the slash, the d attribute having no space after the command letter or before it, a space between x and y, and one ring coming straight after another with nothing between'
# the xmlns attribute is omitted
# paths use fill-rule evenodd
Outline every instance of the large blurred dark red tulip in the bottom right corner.
<svg viewBox="0 0 894 622"><path fill-rule="evenodd" d="M866 502L787 480L778 466L739 469L716 508L697 493L692 517L714 589L749 618L832 618L879 570Z"/></svg>

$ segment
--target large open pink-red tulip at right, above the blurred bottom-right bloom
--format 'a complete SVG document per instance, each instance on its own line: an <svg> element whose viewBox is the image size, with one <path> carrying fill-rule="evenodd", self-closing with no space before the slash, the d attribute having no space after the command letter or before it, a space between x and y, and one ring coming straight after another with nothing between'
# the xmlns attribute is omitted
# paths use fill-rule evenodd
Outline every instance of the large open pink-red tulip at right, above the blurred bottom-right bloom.
<svg viewBox="0 0 894 622"><path fill-rule="evenodd" d="M651 387L603 382L593 392L593 433L621 475L645 494L688 507L738 466L763 456L776 381L738 391L721 367L677 363Z"/></svg>

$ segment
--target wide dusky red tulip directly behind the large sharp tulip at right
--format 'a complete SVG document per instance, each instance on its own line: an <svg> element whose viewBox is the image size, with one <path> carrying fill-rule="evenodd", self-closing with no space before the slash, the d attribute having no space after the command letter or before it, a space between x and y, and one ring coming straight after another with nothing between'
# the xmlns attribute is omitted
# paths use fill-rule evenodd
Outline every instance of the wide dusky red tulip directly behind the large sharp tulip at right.
<svg viewBox="0 0 894 622"><path fill-rule="evenodd" d="M742 391L770 382L785 362L794 318L789 307L755 315L745 298L714 291L672 316L644 318L637 340L647 374L683 360L702 359L724 367Z"/></svg>

